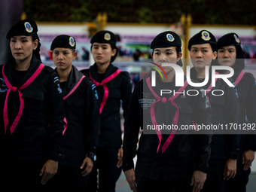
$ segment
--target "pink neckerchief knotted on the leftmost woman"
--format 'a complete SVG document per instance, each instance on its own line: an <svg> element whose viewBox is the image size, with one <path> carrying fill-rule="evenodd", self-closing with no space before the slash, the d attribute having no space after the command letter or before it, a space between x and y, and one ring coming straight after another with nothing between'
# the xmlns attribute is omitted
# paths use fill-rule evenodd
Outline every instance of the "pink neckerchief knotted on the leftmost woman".
<svg viewBox="0 0 256 192"><path fill-rule="evenodd" d="M38 69L36 69L35 73L26 81L25 84L23 84L22 87L20 87L19 89L17 89L17 87L14 87L10 84L10 82L8 81L8 78L5 76L5 72L4 72L4 68L5 65L2 67L2 75L3 78L5 80L5 84L8 87L8 92L6 93L6 97L5 97L5 105L4 105L4 123L5 123L5 134L6 134L6 130L7 130L7 126L8 126L8 96L10 94L10 92L16 92L17 90L19 91L19 96L20 96L20 108L19 108L19 112L17 114L17 116L14 119L14 123L12 123L11 127L10 127L10 131L11 134L14 132L17 124L20 121L20 117L23 113L23 107L24 107L24 99L22 97L23 93L20 92L20 90L23 90L24 88L28 87L29 84L32 83L32 81L35 80L35 78L40 74L41 70L44 69L44 64L41 63L41 65L38 67Z"/></svg>

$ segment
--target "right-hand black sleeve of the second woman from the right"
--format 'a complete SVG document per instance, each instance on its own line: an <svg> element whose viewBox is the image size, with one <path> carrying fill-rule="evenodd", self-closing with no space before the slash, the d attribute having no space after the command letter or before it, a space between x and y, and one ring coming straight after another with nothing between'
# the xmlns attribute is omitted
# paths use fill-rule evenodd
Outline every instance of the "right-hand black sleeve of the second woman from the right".
<svg viewBox="0 0 256 192"><path fill-rule="evenodd" d="M232 82L232 80L230 79ZM224 91L225 96L225 105L224 105L224 119L225 123L233 123L233 124L241 124L242 114L239 105L239 99L237 96L236 87L228 87L225 84L226 89ZM240 142L240 135L238 133L239 130L236 131L234 134L227 134L227 157L229 158L237 158L239 154L239 142Z"/></svg>

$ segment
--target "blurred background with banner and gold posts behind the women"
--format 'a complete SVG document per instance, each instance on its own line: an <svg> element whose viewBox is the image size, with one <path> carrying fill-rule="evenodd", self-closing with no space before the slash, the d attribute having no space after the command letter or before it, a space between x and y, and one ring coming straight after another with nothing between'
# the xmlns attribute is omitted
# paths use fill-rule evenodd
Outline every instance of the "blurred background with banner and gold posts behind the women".
<svg viewBox="0 0 256 192"><path fill-rule="evenodd" d="M130 72L136 84L142 78L143 61L151 58L150 44L157 34L171 30L180 35L182 58L189 59L189 38L206 29L217 40L229 32L236 32L247 58L245 71L256 78L254 0L0 0L0 64L10 56L9 42L5 38L8 30L18 20L26 18L38 24L41 59L47 66L53 67L50 44L56 35L75 37L78 59L73 64L78 69L85 69L93 64L90 38L99 30L110 30L116 35L119 48L113 64ZM252 172L256 172L255 161ZM255 174L252 176L256 179ZM253 182L248 186L252 186L248 191L256 191ZM123 175L117 188L117 191L129 189Z"/></svg>

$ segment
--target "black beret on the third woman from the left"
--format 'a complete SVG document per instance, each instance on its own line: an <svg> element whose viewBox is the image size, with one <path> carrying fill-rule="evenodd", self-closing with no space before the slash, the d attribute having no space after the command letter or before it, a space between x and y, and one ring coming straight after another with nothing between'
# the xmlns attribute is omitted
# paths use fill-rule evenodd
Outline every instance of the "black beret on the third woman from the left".
<svg viewBox="0 0 256 192"><path fill-rule="evenodd" d="M109 31L100 31L93 35L93 38L90 39L90 43L100 43L100 44L116 44L117 39L113 32Z"/></svg>

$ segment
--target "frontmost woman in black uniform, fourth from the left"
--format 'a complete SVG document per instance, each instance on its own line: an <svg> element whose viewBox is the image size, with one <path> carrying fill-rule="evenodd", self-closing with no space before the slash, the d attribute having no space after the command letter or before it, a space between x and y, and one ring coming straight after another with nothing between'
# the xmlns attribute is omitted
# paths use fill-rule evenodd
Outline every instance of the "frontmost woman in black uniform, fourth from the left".
<svg viewBox="0 0 256 192"><path fill-rule="evenodd" d="M151 43L151 54L156 65L181 62L181 39L175 32L162 32ZM166 78L157 76L157 85L151 78L139 81L133 90L124 124L123 172L133 191L200 191L206 180L210 156L211 135L195 133L193 122L209 125L210 108L206 96L188 96L184 86L175 86L175 71L163 66ZM184 77L184 76L183 76ZM172 90L161 96L160 90ZM175 92L175 93L174 93ZM159 111L160 110L160 111ZM148 126L177 126L177 130L148 130ZM182 126L192 126L190 133ZM137 142L139 129L143 129ZM136 169L133 158L137 155ZM191 187L193 185L193 187Z"/></svg>

